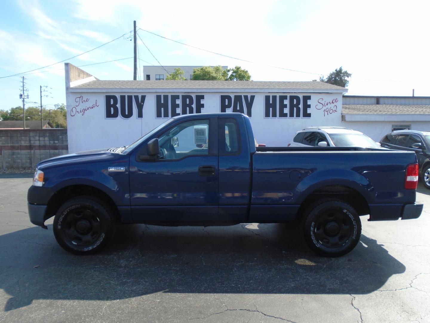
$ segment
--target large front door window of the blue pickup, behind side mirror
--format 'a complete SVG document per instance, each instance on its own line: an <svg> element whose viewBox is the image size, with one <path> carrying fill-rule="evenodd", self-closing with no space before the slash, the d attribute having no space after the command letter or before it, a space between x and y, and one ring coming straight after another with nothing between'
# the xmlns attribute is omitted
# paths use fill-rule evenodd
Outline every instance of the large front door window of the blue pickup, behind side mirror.
<svg viewBox="0 0 430 323"><path fill-rule="evenodd" d="M167 130L158 138L159 160L209 155L209 120L187 121Z"/></svg>

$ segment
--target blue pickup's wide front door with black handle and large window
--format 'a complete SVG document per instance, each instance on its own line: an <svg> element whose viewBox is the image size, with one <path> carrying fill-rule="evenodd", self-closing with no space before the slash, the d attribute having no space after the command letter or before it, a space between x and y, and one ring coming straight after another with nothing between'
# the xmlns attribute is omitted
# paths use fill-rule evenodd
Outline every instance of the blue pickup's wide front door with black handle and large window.
<svg viewBox="0 0 430 323"><path fill-rule="evenodd" d="M142 162L138 152L132 154L133 221L181 224L217 220L217 121L216 116L202 115L160 130L160 153L155 161Z"/></svg>

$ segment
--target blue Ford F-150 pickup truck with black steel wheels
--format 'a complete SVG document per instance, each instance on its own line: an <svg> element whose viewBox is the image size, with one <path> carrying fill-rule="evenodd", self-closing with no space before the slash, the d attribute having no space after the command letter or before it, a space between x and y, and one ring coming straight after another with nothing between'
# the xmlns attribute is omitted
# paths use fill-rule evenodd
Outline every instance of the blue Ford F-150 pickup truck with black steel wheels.
<svg viewBox="0 0 430 323"><path fill-rule="evenodd" d="M37 165L30 221L68 252L91 254L116 221L167 226L299 222L307 245L338 257L369 221L415 219L414 152L357 147L256 147L238 113L169 119L129 146Z"/></svg>

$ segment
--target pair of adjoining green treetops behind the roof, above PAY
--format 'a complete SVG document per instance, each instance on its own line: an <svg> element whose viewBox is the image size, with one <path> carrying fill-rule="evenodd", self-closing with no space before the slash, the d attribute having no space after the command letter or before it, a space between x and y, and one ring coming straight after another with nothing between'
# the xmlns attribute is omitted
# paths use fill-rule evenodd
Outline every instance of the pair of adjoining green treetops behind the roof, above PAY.
<svg viewBox="0 0 430 323"><path fill-rule="evenodd" d="M210 67L203 66L200 68L194 68L193 80L205 80L205 81L250 81L251 75L246 69L240 66L223 70L220 65Z"/></svg>

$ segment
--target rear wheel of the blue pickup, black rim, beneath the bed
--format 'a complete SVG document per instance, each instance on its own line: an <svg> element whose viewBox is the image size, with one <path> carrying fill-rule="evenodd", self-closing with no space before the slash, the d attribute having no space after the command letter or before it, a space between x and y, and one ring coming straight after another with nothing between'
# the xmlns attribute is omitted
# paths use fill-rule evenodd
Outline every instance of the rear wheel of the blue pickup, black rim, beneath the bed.
<svg viewBox="0 0 430 323"><path fill-rule="evenodd" d="M360 240L360 217L354 208L345 202L322 202L304 214L304 217L305 241L319 255L346 255Z"/></svg>

